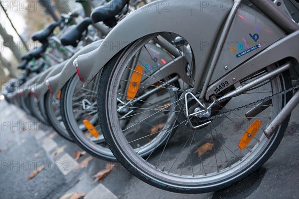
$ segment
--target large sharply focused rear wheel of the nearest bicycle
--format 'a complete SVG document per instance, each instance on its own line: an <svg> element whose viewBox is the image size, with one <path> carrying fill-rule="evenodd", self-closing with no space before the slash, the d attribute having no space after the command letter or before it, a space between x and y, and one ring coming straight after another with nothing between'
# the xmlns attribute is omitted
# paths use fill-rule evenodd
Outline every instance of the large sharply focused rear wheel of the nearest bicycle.
<svg viewBox="0 0 299 199"><path fill-rule="evenodd" d="M162 43L157 42L158 36L168 37L168 44L175 46L180 55L173 55L170 61L157 63L154 68L147 65L147 60L160 60L161 57L150 53L149 46L154 45L156 49L170 53L170 50L161 47ZM143 57L141 52L146 52ZM246 106L237 112L227 112L289 88L291 82L288 74L281 74L246 93L215 104L210 114L211 117L217 117L209 119L210 124L193 129L186 119L185 103L188 103L188 107L194 105L194 99L184 99L185 94L193 89L192 56L188 42L178 35L159 33L145 36L110 60L103 69L98 91L101 129L115 157L144 182L178 193L204 193L223 189L261 167L278 147L289 118L271 139L266 138L263 129L292 95L289 92L264 102L266 107L250 118L246 117L246 113L252 106ZM143 69L140 70L137 65ZM265 67L241 82L236 82L227 92L234 90L236 85L252 81L276 67ZM137 73L141 74L142 78L138 79ZM169 83L173 77L179 77L181 87ZM130 86L135 86L135 91ZM168 96L176 96L176 100L163 105L163 98L158 97L161 89L168 93ZM152 98L156 100L151 100ZM164 114L163 119L157 117L160 114ZM125 124L124 116L130 120ZM241 150L238 143L255 120L261 121L262 125L251 142ZM193 117L191 122L202 124L203 120ZM134 143L148 139L150 144L152 131L144 130L144 134L139 135L135 130L132 133L133 139L128 139L126 134L131 128L138 129L147 123L150 127L157 127L153 134L160 142L157 142L156 146L163 143L163 139L166 139L166 142L160 150L154 149L144 159L136 153Z"/></svg>

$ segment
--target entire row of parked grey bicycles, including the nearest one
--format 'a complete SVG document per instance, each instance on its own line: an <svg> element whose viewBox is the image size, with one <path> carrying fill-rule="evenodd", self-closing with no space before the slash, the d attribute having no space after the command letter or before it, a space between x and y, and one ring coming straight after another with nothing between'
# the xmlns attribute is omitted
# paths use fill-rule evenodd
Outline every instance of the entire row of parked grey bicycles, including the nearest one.
<svg viewBox="0 0 299 199"><path fill-rule="evenodd" d="M62 15L32 36L5 99L150 185L219 190L271 157L299 103L298 5L110 0L76 25Z"/></svg>

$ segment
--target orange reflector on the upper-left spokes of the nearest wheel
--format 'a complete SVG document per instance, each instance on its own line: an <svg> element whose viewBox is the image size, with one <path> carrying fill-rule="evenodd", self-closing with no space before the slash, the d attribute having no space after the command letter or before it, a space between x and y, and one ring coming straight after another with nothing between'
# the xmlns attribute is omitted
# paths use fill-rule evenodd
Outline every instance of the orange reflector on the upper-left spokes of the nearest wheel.
<svg viewBox="0 0 299 199"><path fill-rule="evenodd" d="M143 67L137 65L130 79L130 83L127 91L127 100L133 100L135 98L142 79L142 73L143 73Z"/></svg>

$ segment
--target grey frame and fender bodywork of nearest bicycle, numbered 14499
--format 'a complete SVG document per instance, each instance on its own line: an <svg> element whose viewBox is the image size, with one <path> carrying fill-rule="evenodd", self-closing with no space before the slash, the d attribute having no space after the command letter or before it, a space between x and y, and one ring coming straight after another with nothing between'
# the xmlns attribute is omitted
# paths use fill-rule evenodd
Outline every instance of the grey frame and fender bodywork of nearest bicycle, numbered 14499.
<svg viewBox="0 0 299 199"><path fill-rule="evenodd" d="M206 7L198 6L202 5L202 2L209 1L160 0L150 3L149 7L154 6L156 8L155 5L162 5L163 2L167 2L168 11L163 12L157 9L143 11L139 9L133 12L107 35L98 49L78 57L78 69L84 85L87 85L119 51L133 41L155 32L175 32L181 35L189 42L193 53L198 55L194 57L196 67L193 73L195 78L193 92L197 93L202 89L199 100L203 100L204 98L210 99L210 96L215 95L215 93L211 92L213 89L209 85L215 86L220 84L221 81L217 79L219 77L225 79L230 76L231 79L228 80L232 84L234 81L241 79L242 76L251 74L251 71L258 71L265 67L265 65L275 63L286 57L293 57L299 61L299 55L296 53L298 52L298 45L296 44L298 44L299 26L286 14L284 3L280 1L282 6L279 7L271 0L251 0L253 4L270 18L268 19L252 8L245 6L247 8L246 12L240 9L241 1L232 1L235 3L231 6L230 10L209 10ZM244 20L240 19L242 18L240 15ZM148 21L148 23L144 23L144 21ZM177 27L177 24L179 24L179 27ZM242 36L252 33L257 25L264 28L262 30L259 29L259 37L264 38L264 41L268 45L263 44L260 46L259 51L255 50L239 58L236 58L234 54L222 50L225 41L232 41L234 38L239 40ZM204 27L204 29L200 29L200 27ZM265 29L270 30L271 34L266 32ZM133 33L132 30L134 30ZM198 32L200 34L196 34ZM217 40L216 47L213 47L215 44L212 43L210 44L212 45L210 49L201 48L200 41L215 40ZM113 42L117 42L117 45L114 45ZM288 46L287 43L292 45ZM262 58L263 61L261 62ZM243 70L240 70L242 68ZM287 70L289 68L284 67L283 69ZM283 71L282 69L279 70ZM272 74L275 75L275 72ZM295 102L296 100L291 100L291 103L294 104ZM281 114L289 114L286 110L283 109L279 116ZM270 124L270 126L278 126L279 122L277 121L279 120L275 120L276 124Z"/></svg>

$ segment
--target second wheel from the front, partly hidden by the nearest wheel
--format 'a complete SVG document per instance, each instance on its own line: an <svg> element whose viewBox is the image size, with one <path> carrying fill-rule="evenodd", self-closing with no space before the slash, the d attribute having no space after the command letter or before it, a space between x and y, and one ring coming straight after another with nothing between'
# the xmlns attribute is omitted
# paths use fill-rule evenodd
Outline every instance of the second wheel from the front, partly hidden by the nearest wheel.
<svg viewBox="0 0 299 199"><path fill-rule="evenodd" d="M83 88L75 74L61 90L61 115L69 135L79 147L97 158L115 161L99 128L96 104L99 77L97 75ZM83 121L92 125L96 132L91 134Z"/></svg>

